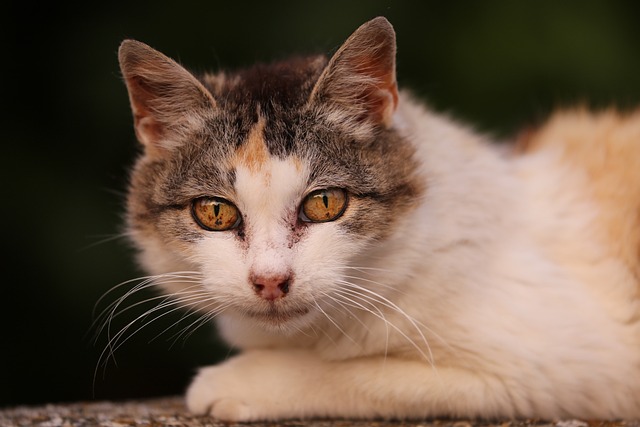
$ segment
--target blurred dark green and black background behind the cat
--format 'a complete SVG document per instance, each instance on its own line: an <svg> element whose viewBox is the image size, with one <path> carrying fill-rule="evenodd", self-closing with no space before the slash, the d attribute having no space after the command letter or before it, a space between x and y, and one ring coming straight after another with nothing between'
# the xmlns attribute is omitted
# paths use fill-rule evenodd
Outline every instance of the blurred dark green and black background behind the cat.
<svg viewBox="0 0 640 427"><path fill-rule="evenodd" d="M118 237L139 148L119 43L215 70L330 52L378 15L397 31L401 86L500 138L558 106L640 105L636 1L10 0L0 18L0 407L179 394L197 366L228 354L211 327L188 339L163 332L177 315L100 364L107 334L94 343L94 306L143 275Z"/></svg>

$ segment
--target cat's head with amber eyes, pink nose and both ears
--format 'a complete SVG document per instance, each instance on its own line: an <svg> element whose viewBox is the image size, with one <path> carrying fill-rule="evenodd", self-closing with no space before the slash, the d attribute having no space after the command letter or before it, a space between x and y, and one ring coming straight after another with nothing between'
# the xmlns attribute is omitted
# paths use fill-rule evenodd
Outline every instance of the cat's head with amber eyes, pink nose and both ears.
<svg viewBox="0 0 640 427"><path fill-rule="evenodd" d="M119 59L144 149L130 235L185 305L280 328L311 321L416 204L384 18L329 60L194 76L131 40Z"/></svg>

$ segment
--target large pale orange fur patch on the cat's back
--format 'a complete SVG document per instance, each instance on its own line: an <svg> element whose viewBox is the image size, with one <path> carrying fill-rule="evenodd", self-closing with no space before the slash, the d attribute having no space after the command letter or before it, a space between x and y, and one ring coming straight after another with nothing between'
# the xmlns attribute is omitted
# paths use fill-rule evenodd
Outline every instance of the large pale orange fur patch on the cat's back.
<svg viewBox="0 0 640 427"><path fill-rule="evenodd" d="M558 147L564 165L586 173L612 255L628 265L640 287L640 111L561 112L518 143L522 153Z"/></svg>

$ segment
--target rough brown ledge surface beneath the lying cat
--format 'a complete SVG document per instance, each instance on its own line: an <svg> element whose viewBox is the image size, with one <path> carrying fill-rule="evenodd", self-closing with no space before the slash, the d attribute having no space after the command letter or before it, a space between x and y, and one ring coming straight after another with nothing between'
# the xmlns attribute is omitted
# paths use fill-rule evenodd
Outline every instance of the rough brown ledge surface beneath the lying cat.
<svg viewBox="0 0 640 427"><path fill-rule="evenodd" d="M234 424L242 426L243 424ZM640 421L541 421L430 419L424 421L313 420L251 423L252 427L640 427ZM0 410L2 427L228 427L187 412L181 398L136 402L87 402Z"/></svg>

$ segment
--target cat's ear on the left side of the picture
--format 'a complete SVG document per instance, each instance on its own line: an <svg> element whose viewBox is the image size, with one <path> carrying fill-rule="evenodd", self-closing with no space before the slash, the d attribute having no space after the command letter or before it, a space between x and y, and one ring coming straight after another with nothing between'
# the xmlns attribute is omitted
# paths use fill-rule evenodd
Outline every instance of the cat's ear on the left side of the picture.
<svg viewBox="0 0 640 427"><path fill-rule="evenodd" d="M118 59L136 136L148 153L174 147L199 112L215 107L211 93L191 73L144 43L123 41Z"/></svg>

